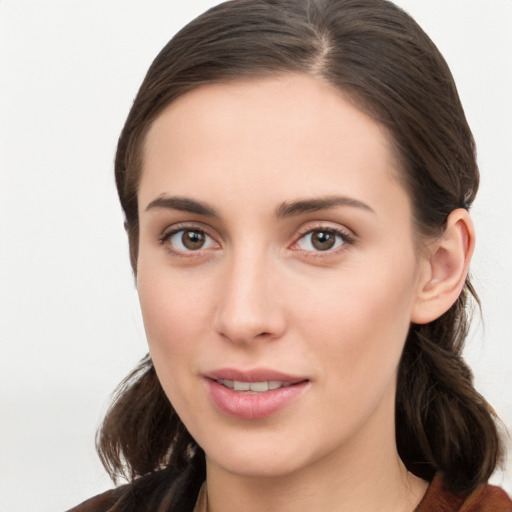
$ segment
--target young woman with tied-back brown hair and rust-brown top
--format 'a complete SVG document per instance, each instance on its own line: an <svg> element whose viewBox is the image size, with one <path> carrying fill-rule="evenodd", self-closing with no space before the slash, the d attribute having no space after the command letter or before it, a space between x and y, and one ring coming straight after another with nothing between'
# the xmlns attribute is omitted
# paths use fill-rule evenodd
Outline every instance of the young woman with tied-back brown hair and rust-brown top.
<svg viewBox="0 0 512 512"><path fill-rule="evenodd" d="M74 510L512 510L461 359L474 143L408 15L208 11L149 69L116 179L151 355L98 437L131 482Z"/></svg>

